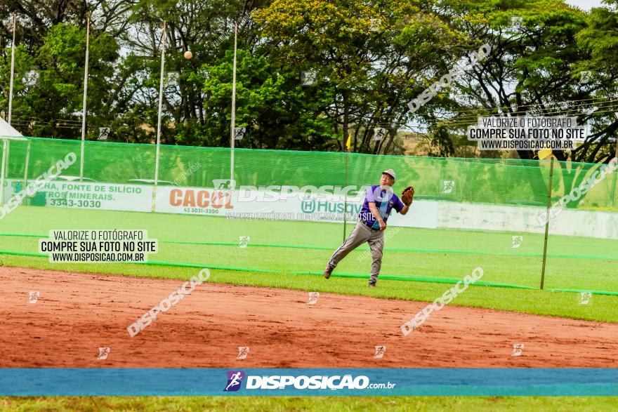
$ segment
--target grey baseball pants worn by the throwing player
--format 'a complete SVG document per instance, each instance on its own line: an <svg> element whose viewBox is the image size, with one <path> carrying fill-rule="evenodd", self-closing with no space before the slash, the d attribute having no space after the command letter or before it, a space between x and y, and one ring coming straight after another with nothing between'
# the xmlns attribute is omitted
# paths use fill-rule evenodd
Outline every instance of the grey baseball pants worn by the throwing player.
<svg viewBox="0 0 618 412"><path fill-rule="evenodd" d="M331 267L337 267L337 263L341 259L345 258L348 253L353 251L358 246L367 242L369 244L369 250L372 252L372 270L369 272L371 279L369 283L375 284L378 281L378 275L380 274L380 268L382 267L382 249L384 248L384 231L383 230L371 230L369 227L363 225L361 222L357 222L354 230L350 232L348 239L343 242L343 245L339 247L329 260Z"/></svg>

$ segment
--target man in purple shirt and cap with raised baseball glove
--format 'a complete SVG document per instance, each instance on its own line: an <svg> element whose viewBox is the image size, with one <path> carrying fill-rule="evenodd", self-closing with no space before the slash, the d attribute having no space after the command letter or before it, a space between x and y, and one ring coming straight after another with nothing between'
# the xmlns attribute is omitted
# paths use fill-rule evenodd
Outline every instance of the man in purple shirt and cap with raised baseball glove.
<svg viewBox="0 0 618 412"><path fill-rule="evenodd" d="M395 183L395 172L388 169L382 172L380 184L369 187L364 197L364 203L358 216L358 222L354 230L348 236L343 245L339 247L331 256L331 259L324 269L324 277L329 279L334 268L341 259L355 248L367 242L372 252L372 270L370 272L369 287L375 288L382 266L382 249L384 247L384 230L390 212L395 209L401 215L409 211L414 197L414 188L407 187L401 196L401 200L393 193Z"/></svg>

